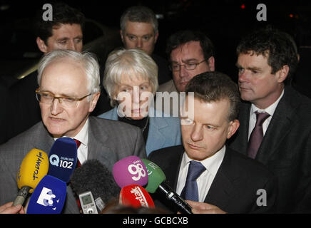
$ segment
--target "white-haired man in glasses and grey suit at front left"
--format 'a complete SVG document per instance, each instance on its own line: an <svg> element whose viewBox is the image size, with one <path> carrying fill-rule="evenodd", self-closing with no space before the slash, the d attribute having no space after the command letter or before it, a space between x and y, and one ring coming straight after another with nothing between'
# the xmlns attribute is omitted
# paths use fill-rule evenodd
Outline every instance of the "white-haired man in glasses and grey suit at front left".
<svg viewBox="0 0 311 228"><path fill-rule="evenodd" d="M56 138L81 142L78 160L96 159L112 170L123 157L146 157L139 128L126 123L89 117L100 95L99 66L91 53L56 50L47 53L38 67L36 90L42 121L0 147L0 205L17 195L16 175L33 148L49 153ZM64 213L78 213L70 185Z"/></svg>

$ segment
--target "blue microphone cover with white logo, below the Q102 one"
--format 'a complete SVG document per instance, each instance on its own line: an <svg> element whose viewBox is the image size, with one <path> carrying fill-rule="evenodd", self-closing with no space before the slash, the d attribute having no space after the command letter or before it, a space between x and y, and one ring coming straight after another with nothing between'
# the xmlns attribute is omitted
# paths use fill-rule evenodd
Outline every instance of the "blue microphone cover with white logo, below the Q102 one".
<svg viewBox="0 0 311 228"><path fill-rule="evenodd" d="M46 175L31 195L27 214L60 214L66 201L66 182Z"/></svg>

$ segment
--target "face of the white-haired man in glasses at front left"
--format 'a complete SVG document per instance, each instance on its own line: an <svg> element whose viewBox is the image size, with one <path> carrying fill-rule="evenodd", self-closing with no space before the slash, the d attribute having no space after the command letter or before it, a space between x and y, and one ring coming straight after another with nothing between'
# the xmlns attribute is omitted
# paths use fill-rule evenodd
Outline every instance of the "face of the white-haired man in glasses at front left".
<svg viewBox="0 0 311 228"><path fill-rule="evenodd" d="M40 90L60 97L82 98L88 95L86 72L80 64L69 59L61 59L50 63L41 76ZM47 130L54 138L64 135L74 137L83 128L89 113L96 106L99 93L78 101L78 106L67 108L59 103L40 103L41 117Z"/></svg>

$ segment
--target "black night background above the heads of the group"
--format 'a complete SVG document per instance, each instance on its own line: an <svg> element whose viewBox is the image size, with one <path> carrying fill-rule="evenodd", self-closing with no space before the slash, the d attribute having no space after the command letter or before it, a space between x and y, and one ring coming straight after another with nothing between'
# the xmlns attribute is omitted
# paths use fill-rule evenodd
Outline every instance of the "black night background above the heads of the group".
<svg viewBox="0 0 311 228"><path fill-rule="evenodd" d="M0 0L0 6L6 4L11 6L9 10L1 12L0 21L31 18L36 9L41 9L44 3L51 1L14 2ZM256 27L272 24L291 33L299 44L300 36L297 35L297 24L301 21L310 21L307 16L311 15L311 4L299 0L88 0L65 2L80 9L86 17L114 28L119 27L120 16L128 6L135 4L149 6L155 11L155 14L164 16L164 19L159 19L160 36L155 52L164 53L166 38L174 31L185 28L200 29L207 33L215 44L216 68L228 74L235 74L235 46L245 33ZM267 6L267 21L257 21L256 19L258 13L256 6L260 3ZM245 9L241 8L242 5L245 6ZM5 31L1 32L5 33ZM2 42L1 45L5 44Z"/></svg>

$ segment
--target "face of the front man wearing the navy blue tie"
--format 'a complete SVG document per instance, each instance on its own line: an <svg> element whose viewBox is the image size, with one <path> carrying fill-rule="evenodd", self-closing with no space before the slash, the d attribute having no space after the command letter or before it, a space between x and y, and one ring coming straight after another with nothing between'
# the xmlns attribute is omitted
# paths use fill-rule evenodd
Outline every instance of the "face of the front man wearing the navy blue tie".
<svg viewBox="0 0 311 228"><path fill-rule="evenodd" d="M193 105L185 107L193 109L193 117L180 118L183 146L188 157L193 160L204 160L218 152L225 141L238 129L238 120L228 121L229 100L205 103L194 98ZM191 113L191 112L189 112Z"/></svg>

